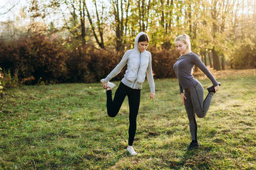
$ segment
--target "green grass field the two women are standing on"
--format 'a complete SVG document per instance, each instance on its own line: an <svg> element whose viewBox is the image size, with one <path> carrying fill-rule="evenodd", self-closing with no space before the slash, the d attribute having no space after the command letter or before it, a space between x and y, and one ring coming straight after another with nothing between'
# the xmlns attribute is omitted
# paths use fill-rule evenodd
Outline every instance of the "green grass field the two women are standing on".
<svg viewBox="0 0 256 170"><path fill-rule="evenodd" d="M191 151L177 79L155 80L154 101L144 83L136 157L125 152L127 99L108 117L100 83L10 89L0 99L0 169L256 169L256 69L213 74L222 85L196 118L200 147Z"/></svg>

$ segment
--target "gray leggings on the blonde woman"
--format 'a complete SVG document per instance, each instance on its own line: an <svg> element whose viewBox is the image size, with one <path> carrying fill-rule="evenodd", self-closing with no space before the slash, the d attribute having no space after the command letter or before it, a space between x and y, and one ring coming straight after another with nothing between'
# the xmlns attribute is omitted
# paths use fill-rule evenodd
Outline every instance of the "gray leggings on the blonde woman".
<svg viewBox="0 0 256 170"><path fill-rule="evenodd" d="M189 129L192 140L197 140L197 124L195 114L199 118L205 117L209 110L213 93L209 93L204 100L204 88L198 81L195 86L185 89L185 108L188 113Z"/></svg>

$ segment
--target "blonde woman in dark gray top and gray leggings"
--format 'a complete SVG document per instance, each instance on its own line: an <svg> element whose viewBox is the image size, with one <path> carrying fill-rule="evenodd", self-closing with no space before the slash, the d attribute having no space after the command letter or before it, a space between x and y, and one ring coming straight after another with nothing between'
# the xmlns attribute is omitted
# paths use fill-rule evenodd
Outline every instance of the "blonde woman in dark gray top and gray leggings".
<svg viewBox="0 0 256 170"><path fill-rule="evenodd" d="M215 80L198 55L191 52L191 43L187 34L182 34L175 38L175 46L180 53L180 57L173 65L173 69L179 80L180 95L188 114L192 142L187 149L191 149L199 146L195 114L199 118L205 117L211 104L213 94L220 89L220 83ZM203 86L192 74L195 65L206 74L213 84L212 87L207 89L209 94L205 99Z"/></svg>

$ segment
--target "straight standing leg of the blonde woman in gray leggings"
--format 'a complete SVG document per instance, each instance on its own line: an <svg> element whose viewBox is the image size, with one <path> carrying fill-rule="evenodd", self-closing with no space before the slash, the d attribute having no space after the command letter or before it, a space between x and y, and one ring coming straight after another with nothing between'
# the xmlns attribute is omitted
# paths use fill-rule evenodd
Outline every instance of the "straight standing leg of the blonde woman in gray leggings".
<svg viewBox="0 0 256 170"><path fill-rule="evenodd" d="M191 138L192 138L192 141L197 141L197 124L196 124L195 111L191 101L191 94L189 92L189 89L185 90L185 96L187 99L184 100L184 104L188 114Z"/></svg>

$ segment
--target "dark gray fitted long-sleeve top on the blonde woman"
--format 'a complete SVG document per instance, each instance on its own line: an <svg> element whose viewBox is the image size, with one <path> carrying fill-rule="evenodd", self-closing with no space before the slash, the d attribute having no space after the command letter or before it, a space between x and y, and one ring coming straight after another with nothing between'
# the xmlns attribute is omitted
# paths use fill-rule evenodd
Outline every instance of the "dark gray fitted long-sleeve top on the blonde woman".
<svg viewBox="0 0 256 170"><path fill-rule="evenodd" d="M212 76L207 67L205 67L198 55L190 52L186 55L180 56L177 62L175 62L173 65L173 69L179 80L180 93L183 93L184 89L196 85L197 81L192 74L192 68L194 65L198 66L205 73L205 75L212 81L214 86L218 85L218 82Z"/></svg>

